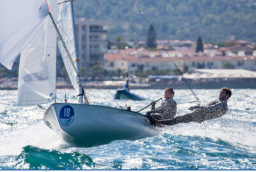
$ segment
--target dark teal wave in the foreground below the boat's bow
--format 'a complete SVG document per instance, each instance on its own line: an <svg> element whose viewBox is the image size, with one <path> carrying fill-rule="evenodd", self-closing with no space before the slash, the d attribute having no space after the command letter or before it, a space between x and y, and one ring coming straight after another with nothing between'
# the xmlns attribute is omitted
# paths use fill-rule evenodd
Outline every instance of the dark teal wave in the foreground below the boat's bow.
<svg viewBox="0 0 256 172"><path fill-rule="evenodd" d="M99 168L88 155L77 152L61 153L33 146L23 148L17 157L15 169L95 169Z"/></svg>

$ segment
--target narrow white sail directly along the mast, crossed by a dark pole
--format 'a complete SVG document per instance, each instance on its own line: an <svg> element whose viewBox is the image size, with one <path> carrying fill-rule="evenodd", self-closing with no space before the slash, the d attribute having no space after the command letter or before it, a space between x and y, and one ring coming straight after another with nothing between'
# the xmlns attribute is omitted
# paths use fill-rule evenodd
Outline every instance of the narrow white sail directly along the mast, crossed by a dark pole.
<svg viewBox="0 0 256 172"><path fill-rule="evenodd" d="M65 42L68 52L72 58L72 61L74 64L76 64L76 45L74 41L74 31L73 31L74 28L72 26L70 1L58 0L57 25L58 25L58 29L60 31L61 37L63 38L63 41ZM74 89L76 90L77 94L79 94L79 87L78 87L79 78L77 76L75 69L72 66L72 63L70 62L70 59L68 59L67 52L65 51L65 48L63 47L60 40L58 40L58 47L59 47L63 62L65 64L65 68L67 69L67 73L70 78L70 81Z"/></svg>

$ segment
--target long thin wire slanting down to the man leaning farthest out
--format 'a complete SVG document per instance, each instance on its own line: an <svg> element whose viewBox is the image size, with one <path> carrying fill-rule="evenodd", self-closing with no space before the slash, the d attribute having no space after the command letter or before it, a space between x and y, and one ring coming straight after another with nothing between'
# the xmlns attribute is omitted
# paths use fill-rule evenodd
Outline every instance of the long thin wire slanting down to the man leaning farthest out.
<svg viewBox="0 0 256 172"><path fill-rule="evenodd" d="M136 6L136 8L140 11L142 17L144 18L145 22L148 24L148 26L150 26L147 18L145 17L145 15L143 14L143 11L141 11L140 7L138 6L138 4L136 3L135 0L133 0L134 5ZM166 50L166 48L164 47L162 41L159 39L159 37L157 36L156 32L154 31L154 35L156 36L157 40L159 41L159 43L161 43L162 47L164 48L164 52L166 52L166 54L168 55L168 57L170 57L170 59L172 60L175 68L177 69L177 71L179 72L180 76L182 77L182 80L184 80L184 82L186 83L186 85L188 86L188 88L191 90L193 96L195 97L195 99L200 103L198 97L196 96L194 90L192 89L192 87L189 85L188 80L186 80L186 78L183 76L182 71L180 71L180 69L178 68L178 66L175 64L175 62L173 61L172 57L170 56L170 54L168 53L168 51ZM201 103L200 103L201 104Z"/></svg>

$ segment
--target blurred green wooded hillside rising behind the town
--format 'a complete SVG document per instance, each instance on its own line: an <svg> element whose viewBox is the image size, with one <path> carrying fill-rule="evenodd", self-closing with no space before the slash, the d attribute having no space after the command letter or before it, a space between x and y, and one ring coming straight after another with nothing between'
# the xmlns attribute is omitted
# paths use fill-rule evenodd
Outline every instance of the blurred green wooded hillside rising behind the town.
<svg viewBox="0 0 256 172"><path fill-rule="evenodd" d="M76 0L76 17L102 20L109 38L145 41L148 25L133 0ZM255 0L135 0L161 39L191 39L201 35L206 42L224 41L230 35L256 42Z"/></svg>

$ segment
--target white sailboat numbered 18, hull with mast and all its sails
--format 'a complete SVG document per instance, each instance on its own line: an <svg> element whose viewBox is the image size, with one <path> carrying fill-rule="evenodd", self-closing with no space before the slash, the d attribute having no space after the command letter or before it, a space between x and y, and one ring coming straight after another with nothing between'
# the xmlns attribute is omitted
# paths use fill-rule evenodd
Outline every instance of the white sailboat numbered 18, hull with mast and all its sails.
<svg viewBox="0 0 256 172"><path fill-rule="evenodd" d="M8 0L1 5L0 15L0 62L11 69L20 54L19 106L56 99L58 43L78 103L51 104L44 122L65 141L93 147L159 134L141 113L89 104L81 85L72 0Z"/></svg>

